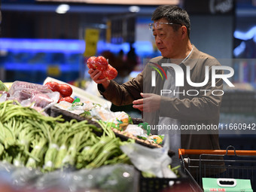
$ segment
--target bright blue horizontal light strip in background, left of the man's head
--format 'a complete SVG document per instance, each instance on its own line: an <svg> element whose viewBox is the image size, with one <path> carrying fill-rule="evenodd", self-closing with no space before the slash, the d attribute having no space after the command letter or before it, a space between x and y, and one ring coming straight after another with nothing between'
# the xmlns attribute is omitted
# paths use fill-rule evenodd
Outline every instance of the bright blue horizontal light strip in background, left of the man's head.
<svg viewBox="0 0 256 192"><path fill-rule="evenodd" d="M139 55L151 54L153 47L150 41L136 41L133 46ZM84 40L62 40L62 39L29 39L29 38L0 38L0 50L12 52L45 52L45 53L84 53ZM109 50L112 53L118 53L123 50L127 53L130 50L128 43L110 44L105 41L99 41L97 44L97 53Z"/></svg>

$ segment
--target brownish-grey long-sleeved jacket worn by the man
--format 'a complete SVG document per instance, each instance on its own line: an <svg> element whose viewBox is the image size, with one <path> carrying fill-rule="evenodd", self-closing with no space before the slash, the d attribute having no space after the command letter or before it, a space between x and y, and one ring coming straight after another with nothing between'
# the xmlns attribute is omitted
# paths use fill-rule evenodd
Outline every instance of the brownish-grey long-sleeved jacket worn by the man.
<svg viewBox="0 0 256 192"><path fill-rule="evenodd" d="M160 95L160 90L163 88L163 80L159 73L156 73L155 87L151 87L151 71L154 70L150 66L154 66L151 62L161 63L166 62L163 56L155 57L147 63L145 69L133 78L122 85L111 81L107 90L104 90L99 84L99 92L105 99L111 101L114 105L128 105L133 100L142 98L140 93L156 93ZM160 110L152 113L143 113L143 119L150 125L157 125L159 117L172 117L181 121L181 125L209 125L218 126L220 107L221 107L221 92L222 79L216 80L216 86L212 87L212 66L220 66L217 59L209 56L206 53L200 52L194 47L192 53L184 63L180 66L184 69L184 87L180 87L179 92L184 91L184 95L180 94L179 98L169 98L161 96ZM203 87L192 87L187 83L186 66L190 66L190 80L194 83L200 83L205 80L205 66L209 66L209 81ZM163 67L165 69L165 67ZM221 74L217 71L216 74ZM187 94L187 90L190 94ZM195 91L197 90L197 91ZM207 91L202 91L207 90ZM214 91L213 95L212 91ZM196 95L197 96L189 96ZM164 110L161 110L164 109ZM218 130L181 130L181 148L184 149L219 149ZM177 152L177 151L175 151Z"/></svg>

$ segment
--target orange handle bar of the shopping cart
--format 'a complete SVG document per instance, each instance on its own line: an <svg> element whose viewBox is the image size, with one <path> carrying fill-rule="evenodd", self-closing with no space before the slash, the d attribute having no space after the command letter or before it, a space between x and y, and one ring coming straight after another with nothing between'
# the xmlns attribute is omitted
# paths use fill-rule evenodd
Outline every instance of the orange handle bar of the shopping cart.
<svg viewBox="0 0 256 192"><path fill-rule="evenodd" d="M226 155L248 155L256 156L256 151L247 151L247 150L201 150L201 149L178 149L178 158L181 158L181 155L184 154L226 154Z"/></svg>

